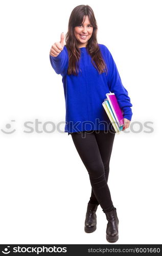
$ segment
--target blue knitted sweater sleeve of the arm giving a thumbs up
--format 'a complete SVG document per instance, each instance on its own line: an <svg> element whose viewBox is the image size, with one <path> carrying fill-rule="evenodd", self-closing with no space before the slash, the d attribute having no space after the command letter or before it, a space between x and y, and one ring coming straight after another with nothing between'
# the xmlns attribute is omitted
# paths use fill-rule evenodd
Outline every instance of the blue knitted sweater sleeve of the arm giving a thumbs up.
<svg viewBox="0 0 162 256"><path fill-rule="evenodd" d="M66 47L63 47L58 56L53 57L50 55L50 62L56 74L65 75L68 68L68 52Z"/></svg>

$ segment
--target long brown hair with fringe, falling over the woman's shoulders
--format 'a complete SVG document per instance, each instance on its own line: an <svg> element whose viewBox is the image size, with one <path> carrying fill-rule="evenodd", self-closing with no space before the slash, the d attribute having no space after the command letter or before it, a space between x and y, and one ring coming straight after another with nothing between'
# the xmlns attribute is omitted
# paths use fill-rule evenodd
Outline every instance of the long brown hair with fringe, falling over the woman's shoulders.
<svg viewBox="0 0 162 256"><path fill-rule="evenodd" d="M71 13L68 22L68 31L65 35L66 48L68 50L68 70L67 74L77 75L79 72L79 59L81 56L77 39L74 35L74 28L84 23L85 17L88 16L93 32L89 38L86 49L91 56L91 63L99 71L99 73L107 72L107 66L102 58L100 48L97 42L97 22L93 10L88 5L79 5L75 7Z"/></svg>

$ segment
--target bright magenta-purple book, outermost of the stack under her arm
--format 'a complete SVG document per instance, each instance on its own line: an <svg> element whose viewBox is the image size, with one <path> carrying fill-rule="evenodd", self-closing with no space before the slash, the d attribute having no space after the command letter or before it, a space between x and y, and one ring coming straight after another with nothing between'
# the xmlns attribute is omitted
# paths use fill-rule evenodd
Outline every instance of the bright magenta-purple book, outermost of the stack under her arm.
<svg viewBox="0 0 162 256"><path fill-rule="evenodd" d="M123 122L123 111L120 109L117 98L114 93L106 93L107 100L111 106L112 112L119 126L124 124Z"/></svg>

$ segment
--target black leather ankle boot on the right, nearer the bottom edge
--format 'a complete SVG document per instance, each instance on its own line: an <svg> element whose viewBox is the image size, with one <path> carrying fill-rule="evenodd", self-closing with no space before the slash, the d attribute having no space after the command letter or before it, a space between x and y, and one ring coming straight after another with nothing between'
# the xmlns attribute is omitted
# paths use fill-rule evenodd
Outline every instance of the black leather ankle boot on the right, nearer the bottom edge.
<svg viewBox="0 0 162 256"><path fill-rule="evenodd" d="M108 220L106 228L106 240L110 243L117 242L119 239L118 226L119 219L117 216L117 209L105 212L106 219Z"/></svg>

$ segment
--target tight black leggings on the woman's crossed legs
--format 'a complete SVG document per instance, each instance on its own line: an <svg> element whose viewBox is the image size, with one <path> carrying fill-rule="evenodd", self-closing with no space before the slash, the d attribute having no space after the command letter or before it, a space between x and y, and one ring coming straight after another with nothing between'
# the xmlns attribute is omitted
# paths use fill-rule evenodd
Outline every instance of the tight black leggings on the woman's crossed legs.
<svg viewBox="0 0 162 256"><path fill-rule="evenodd" d="M88 171L91 184L89 203L100 204L103 212L114 209L107 181L115 132L95 130L70 134Z"/></svg>

